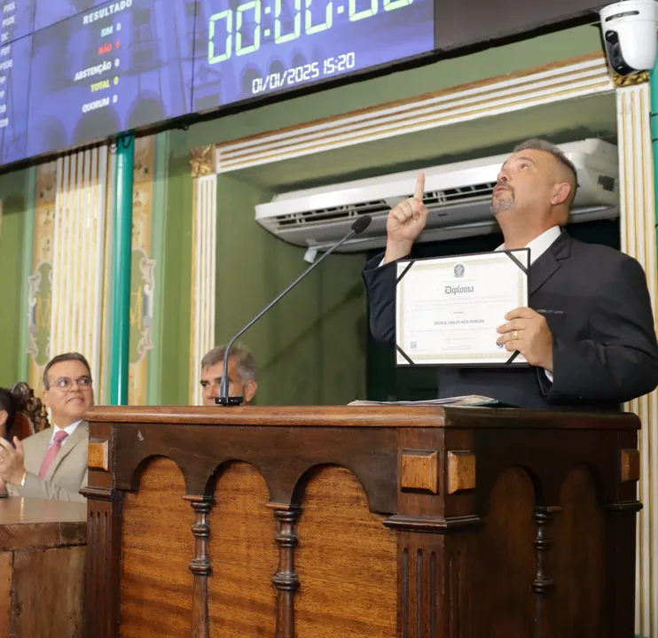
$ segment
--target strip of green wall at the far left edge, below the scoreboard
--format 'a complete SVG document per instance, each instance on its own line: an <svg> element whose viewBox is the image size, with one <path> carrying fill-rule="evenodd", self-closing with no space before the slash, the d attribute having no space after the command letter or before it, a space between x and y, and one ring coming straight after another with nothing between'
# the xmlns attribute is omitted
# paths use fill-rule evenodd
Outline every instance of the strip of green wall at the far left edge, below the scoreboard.
<svg viewBox="0 0 658 638"><path fill-rule="evenodd" d="M27 171L0 175L3 219L0 229L0 386L18 381L22 292L23 229Z"/></svg>

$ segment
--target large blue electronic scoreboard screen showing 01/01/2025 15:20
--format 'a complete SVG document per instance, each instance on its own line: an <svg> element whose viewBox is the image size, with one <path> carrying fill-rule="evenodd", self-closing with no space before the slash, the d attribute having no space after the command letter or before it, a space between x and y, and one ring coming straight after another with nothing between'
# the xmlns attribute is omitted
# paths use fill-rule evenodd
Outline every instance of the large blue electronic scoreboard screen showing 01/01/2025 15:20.
<svg viewBox="0 0 658 638"><path fill-rule="evenodd" d="M435 49L434 0L0 0L0 166Z"/></svg>

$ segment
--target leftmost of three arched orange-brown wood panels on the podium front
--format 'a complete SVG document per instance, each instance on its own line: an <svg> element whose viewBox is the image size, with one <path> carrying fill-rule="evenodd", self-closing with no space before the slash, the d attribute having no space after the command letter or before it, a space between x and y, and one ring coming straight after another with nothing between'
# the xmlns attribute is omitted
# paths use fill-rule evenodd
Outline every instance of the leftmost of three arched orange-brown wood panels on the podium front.
<svg viewBox="0 0 658 638"><path fill-rule="evenodd" d="M176 463L155 458L123 502L121 636L188 636L194 556L190 504Z"/></svg>

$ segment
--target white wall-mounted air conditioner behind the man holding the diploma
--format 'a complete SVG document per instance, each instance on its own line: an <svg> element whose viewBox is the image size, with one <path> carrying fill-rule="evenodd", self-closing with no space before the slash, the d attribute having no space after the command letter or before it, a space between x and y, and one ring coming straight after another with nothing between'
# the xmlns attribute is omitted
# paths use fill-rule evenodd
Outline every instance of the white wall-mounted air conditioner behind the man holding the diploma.
<svg viewBox="0 0 658 638"><path fill-rule="evenodd" d="M578 191L573 222L614 219L619 215L617 149L599 139L560 144L575 164ZM419 241L484 235L497 230L490 211L491 194L500 167L509 157L482 159L422 168L425 179L427 226ZM418 171L380 175L320 188L281 193L256 206L256 222L290 242L323 250L349 231L358 215L370 214L363 235L341 246L342 252L365 251L386 245L390 209L411 197Z"/></svg>

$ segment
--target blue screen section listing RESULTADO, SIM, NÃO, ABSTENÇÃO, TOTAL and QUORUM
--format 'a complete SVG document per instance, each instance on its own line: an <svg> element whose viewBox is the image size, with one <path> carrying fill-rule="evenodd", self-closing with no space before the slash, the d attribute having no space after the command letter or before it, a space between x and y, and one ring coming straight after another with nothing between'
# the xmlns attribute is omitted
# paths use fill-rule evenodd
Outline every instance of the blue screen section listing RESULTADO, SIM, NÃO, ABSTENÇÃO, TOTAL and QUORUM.
<svg viewBox="0 0 658 638"><path fill-rule="evenodd" d="M184 9L121 0L36 31L27 155L190 113L194 14Z"/></svg>

